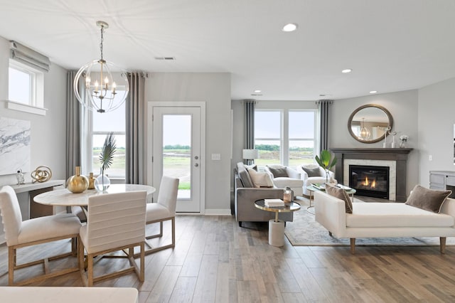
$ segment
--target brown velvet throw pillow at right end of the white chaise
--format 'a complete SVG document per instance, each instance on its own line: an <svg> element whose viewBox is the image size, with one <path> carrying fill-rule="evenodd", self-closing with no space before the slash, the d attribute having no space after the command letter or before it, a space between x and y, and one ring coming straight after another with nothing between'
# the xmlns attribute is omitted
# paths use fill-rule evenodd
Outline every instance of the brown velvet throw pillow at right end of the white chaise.
<svg viewBox="0 0 455 303"><path fill-rule="evenodd" d="M451 194L452 191L438 191L436 189L424 188L417 184L412 189L409 198L405 204L422 208L425 211L439 213L442 203Z"/></svg>

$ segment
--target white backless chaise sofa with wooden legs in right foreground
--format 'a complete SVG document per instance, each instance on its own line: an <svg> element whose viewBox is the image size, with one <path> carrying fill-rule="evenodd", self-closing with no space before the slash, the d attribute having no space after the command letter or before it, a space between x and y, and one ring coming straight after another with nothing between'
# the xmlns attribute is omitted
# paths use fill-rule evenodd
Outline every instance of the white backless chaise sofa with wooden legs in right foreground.
<svg viewBox="0 0 455 303"><path fill-rule="evenodd" d="M335 238L439 237L444 253L446 237L455 237L455 199L446 198L439 213L407 203L353 203L346 213L345 201L322 191L314 192L316 222Z"/></svg>

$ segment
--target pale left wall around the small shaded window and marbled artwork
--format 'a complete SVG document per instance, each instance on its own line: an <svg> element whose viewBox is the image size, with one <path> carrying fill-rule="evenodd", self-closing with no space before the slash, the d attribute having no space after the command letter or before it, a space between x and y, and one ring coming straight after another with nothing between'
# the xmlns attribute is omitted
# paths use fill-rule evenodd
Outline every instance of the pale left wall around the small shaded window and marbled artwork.
<svg viewBox="0 0 455 303"><path fill-rule="evenodd" d="M45 116L6 108L8 100L9 41L0 38L0 117L31 122L31 170L45 165L52 170L52 179L65 179L66 70L52 64L44 73ZM26 181L30 182L30 171ZM15 184L16 176L0 176L0 186Z"/></svg>

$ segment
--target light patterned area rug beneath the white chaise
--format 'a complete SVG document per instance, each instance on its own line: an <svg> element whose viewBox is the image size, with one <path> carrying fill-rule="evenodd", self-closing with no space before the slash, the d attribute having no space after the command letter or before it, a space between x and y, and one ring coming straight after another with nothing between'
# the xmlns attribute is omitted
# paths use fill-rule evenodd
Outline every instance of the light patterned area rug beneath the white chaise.
<svg viewBox="0 0 455 303"><path fill-rule="evenodd" d="M362 201L355 198L355 202ZM349 239L338 239L328 235L328 230L314 220L314 208L310 208L308 199L300 200L300 211L294 212L294 221L287 222L284 234L294 246L349 246ZM368 203L368 202L367 202ZM356 246L439 246L439 238L358 238ZM455 245L455 238L447 238L446 245Z"/></svg>

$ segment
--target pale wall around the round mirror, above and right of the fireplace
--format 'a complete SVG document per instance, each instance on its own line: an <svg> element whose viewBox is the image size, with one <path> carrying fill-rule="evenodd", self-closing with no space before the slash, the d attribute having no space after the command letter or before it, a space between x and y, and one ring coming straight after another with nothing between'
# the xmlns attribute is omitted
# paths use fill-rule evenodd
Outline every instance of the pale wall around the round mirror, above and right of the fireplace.
<svg viewBox="0 0 455 303"><path fill-rule="evenodd" d="M358 142L348 132L348 119L350 114L362 105L375 104L385 107L393 118L392 132L397 132L398 139L401 134L407 134L410 139L407 147L413 148L407 160L407 185L406 192L410 193L415 184L419 183L419 138L417 132L417 90L405 90L402 92L391 92L387 94L368 95L343 100L335 100L331 106L329 123L329 143L331 148L362 147L382 148L382 143L365 144ZM387 136L387 142L391 142ZM396 143L398 143L396 141ZM389 144L390 147L390 144Z"/></svg>

